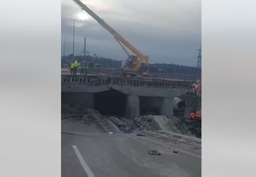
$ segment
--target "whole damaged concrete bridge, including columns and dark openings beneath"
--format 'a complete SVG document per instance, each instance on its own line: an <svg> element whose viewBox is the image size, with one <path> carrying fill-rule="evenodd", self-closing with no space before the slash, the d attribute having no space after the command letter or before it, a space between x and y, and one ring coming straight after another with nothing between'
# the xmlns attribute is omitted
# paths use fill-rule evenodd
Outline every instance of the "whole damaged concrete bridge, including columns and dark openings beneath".
<svg viewBox="0 0 256 177"><path fill-rule="evenodd" d="M96 108L100 104L101 107L108 107L110 110L123 110L127 118L146 113L145 110L172 117L174 97L184 97L193 84L192 81L181 79L105 74L108 69L105 71L101 69L101 72L103 73L98 73L98 69L91 69L88 75L83 76L69 75L63 71L61 77L63 104L73 104L82 108ZM108 99L105 100L104 96ZM120 107L120 104L123 107ZM111 108L110 105L113 107ZM187 108L188 112L193 106L190 104Z"/></svg>

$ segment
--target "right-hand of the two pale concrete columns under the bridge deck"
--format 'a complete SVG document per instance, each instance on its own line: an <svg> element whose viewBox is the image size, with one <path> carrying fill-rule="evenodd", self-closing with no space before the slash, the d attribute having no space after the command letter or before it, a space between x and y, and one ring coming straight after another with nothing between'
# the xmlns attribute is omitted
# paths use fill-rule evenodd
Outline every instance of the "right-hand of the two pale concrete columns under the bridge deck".
<svg viewBox="0 0 256 177"><path fill-rule="evenodd" d="M165 115L168 117L172 117L173 116L173 102L174 99L173 97L164 97L162 98L162 105L160 108L160 114L161 115Z"/></svg>

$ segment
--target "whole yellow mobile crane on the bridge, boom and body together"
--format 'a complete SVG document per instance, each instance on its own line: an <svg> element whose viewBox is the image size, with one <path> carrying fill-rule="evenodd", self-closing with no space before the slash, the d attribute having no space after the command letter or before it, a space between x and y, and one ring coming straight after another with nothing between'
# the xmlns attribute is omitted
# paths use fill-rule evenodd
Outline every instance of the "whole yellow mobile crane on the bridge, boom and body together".
<svg viewBox="0 0 256 177"><path fill-rule="evenodd" d="M129 43L125 38L123 38L116 30L114 30L110 25L108 25L103 19L98 17L91 9L87 7L87 5L83 4L79 0L72 0L75 2L78 7L87 12L94 18L99 24L101 24L109 33L113 35L113 37L120 44L121 48L127 54L128 58L126 59L126 63L123 67L123 76L149 76L149 57L143 55L139 52L132 44ZM133 54L129 54L128 50Z"/></svg>

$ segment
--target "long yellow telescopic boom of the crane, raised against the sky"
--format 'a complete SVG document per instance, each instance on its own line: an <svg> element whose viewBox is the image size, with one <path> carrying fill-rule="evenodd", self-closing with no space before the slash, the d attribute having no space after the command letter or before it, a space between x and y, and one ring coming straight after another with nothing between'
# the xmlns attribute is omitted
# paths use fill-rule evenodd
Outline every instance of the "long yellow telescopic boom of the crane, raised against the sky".
<svg viewBox="0 0 256 177"><path fill-rule="evenodd" d="M87 12L89 15L91 15L92 18L94 18L96 21L98 21L99 24L101 24L109 33L113 34L114 38L120 43L122 43L124 46L126 46L130 51L132 51L137 56L137 60L135 63L135 68L139 69L141 63L145 63L148 65L148 56L144 56L142 53L139 52L135 47L133 47L132 44L129 43L125 38L123 38L119 33L117 33L116 30L114 30L110 25L108 25L103 19L98 17L97 14L95 14L91 9L87 7L87 5L83 4L79 0L73 0L82 10ZM120 44L121 45L121 44ZM123 46L121 46L123 48ZM124 48L123 48L124 49ZM124 49L124 52L127 53L127 51ZM127 53L128 54L128 53Z"/></svg>

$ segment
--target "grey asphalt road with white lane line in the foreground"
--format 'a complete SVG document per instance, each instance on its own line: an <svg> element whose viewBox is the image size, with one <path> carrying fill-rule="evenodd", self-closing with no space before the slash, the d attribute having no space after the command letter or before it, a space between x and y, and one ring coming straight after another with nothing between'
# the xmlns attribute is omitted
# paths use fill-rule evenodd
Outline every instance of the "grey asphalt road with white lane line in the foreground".
<svg viewBox="0 0 256 177"><path fill-rule="evenodd" d="M62 133L62 177L201 176L199 157L173 153L171 147L133 134L74 131L66 128L70 124L62 124L63 132L73 133ZM149 149L162 155L149 155Z"/></svg>

